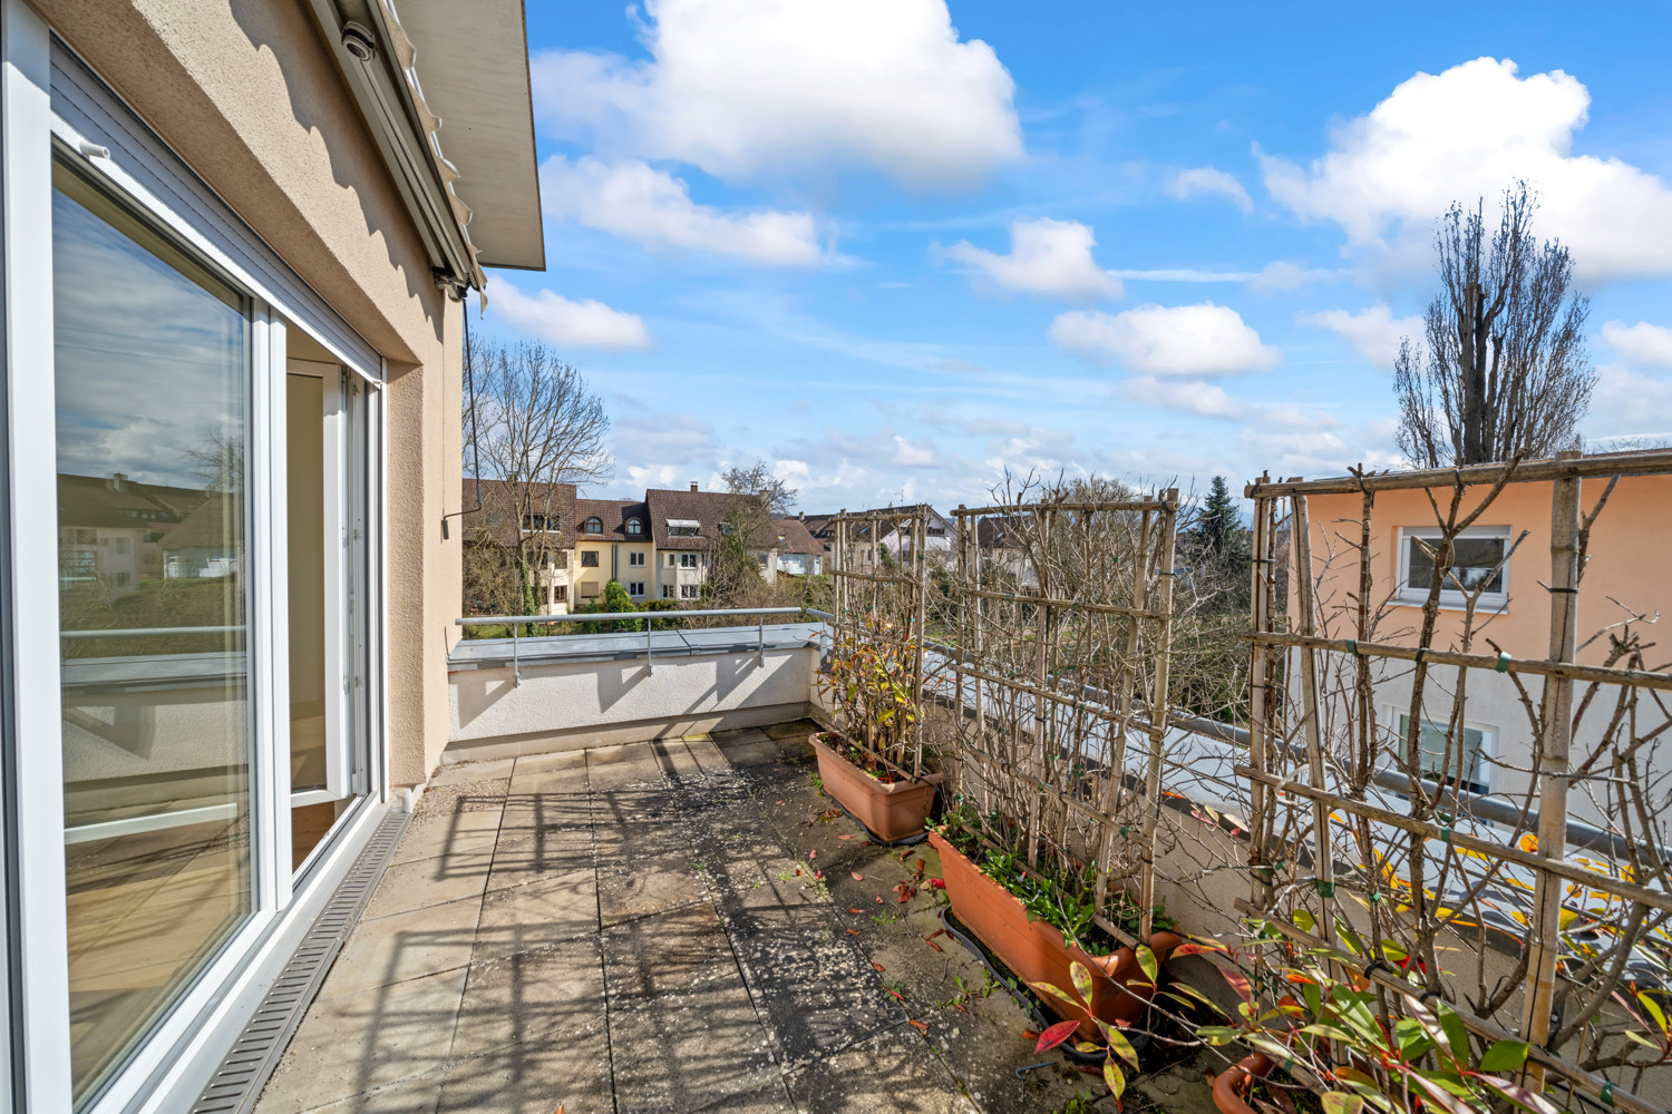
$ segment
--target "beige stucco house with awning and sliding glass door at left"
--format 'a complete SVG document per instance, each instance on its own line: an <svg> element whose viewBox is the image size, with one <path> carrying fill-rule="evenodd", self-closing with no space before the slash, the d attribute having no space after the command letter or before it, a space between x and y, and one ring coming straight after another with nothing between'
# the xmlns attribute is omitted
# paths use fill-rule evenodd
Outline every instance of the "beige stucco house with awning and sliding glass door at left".
<svg viewBox="0 0 1672 1114"><path fill-rule="evenodd" d="M7 1109L209 1109L448 743L465 297L543 239L523 5L398 8L0 0Z"/></svg>

